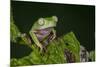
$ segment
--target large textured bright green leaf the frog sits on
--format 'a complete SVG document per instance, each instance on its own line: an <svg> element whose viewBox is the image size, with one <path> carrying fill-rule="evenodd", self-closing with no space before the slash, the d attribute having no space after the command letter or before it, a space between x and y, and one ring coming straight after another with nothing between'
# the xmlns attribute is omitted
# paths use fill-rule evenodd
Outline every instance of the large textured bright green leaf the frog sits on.
<svg viewBox="0 0 100 67"><path fill-rule="evenodd" d="M75 55L75 62L79 62L80 56L80 43L76 39L73 32L70 32L63 37L51 41L45 52L40 53L39 49L35 46L32 47L33 51L26 57L15 60L11 59L11 65L37 65L37 64L60 64L67 63L65 57L65 49L68 49ZM73 58L73 57L72 57ZM67 58L68 59L68 58Z"/></svg>

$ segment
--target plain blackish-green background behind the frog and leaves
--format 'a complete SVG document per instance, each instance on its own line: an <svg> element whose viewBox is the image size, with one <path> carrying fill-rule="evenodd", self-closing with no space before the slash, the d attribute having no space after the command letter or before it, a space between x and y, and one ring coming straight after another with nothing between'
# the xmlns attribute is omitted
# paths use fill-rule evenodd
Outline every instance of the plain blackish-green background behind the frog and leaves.
<svg viewBox="0 0 100 67"><path fill-rule="evenodd" d="M73 31L88 51L95 49L95 6L11 1L15 24L28 33L40 17L58 17L57 36Z"/></svg>

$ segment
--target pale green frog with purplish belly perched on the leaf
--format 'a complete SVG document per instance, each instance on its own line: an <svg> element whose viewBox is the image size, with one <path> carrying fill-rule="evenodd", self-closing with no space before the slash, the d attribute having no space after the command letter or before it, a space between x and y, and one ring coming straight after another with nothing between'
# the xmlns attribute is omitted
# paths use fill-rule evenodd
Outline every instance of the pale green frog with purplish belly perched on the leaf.
<svg viewBox="0 0 100 67"><path fill-rule="evenodd" d="M39 18L36 22L34 22L31 30L29 31L29 35L31 40L43 50L43 48L48 45L48 43L56 38L56 27L58 18L57 16ZM31 43L29 38L25 38L26 34L22 35L22 39L27 43Z"/></svg>

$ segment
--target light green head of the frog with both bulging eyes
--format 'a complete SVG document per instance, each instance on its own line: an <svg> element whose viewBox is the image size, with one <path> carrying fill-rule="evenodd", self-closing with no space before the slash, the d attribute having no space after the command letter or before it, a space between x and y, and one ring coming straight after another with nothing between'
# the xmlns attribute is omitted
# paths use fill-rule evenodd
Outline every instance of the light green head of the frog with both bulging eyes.
<svg viewBox="0 0 100 67"><path fill-rule="evenodd" d="M56 16L39 18L33 25L33 29L45 29L49 27L55 27L58 18Z"/></svg>

